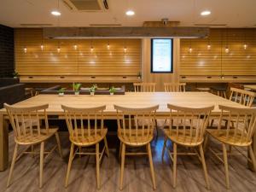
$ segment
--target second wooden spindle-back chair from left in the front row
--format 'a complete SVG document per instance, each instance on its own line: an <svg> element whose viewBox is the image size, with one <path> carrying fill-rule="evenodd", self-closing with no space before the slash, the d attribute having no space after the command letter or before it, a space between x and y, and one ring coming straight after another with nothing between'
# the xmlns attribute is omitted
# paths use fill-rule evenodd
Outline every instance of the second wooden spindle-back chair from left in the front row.
<svg viewBox="0 0 256 192"><path fill-rule="evenodd" d="M90 154L96 155L96 183L97 189L100 189L100 163L104 152L108 154L108 143L107 143L107 128L104 127L104 116L103 110L106 106L97 108L69 108L61 105L64 110L67 128L69 131L69 140L71 142L68 166L67 166L67 177L65 187L68 184L68 178L72 166L73 159L76 154ZM87 122L87 124L86 124ZM104 141L104 148L100 152L100 142ZM82 148L96 146L96 152L82 152ZM78 148L74 150L74 147Z"/></svg>

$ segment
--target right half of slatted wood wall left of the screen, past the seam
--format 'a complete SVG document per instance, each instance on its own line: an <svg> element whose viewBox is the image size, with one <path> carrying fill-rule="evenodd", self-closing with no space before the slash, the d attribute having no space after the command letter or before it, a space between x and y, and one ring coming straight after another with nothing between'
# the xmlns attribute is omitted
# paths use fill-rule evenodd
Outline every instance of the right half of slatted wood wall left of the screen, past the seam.
<svg viewBox="0 0 256 192"><path fill-rule="evenodd" d="M136 76L140 72L140 40L93 39L90 41L93 51L90 51L90 44L85 44L86 41L79 44L79 74Z"/></svg>

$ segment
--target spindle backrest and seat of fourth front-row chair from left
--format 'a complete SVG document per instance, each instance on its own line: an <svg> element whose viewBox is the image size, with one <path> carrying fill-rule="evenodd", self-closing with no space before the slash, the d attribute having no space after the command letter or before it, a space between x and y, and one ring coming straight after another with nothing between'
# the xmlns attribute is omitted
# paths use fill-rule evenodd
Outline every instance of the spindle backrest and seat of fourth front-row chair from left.
<svg viewBox="0 0 256 192"><path fill-rule="evenodd" d="M182 137L184 143L197 144L203 137L214 106L206 108L183 108L167 104L170 109L169 133ZM189 134L188 134L189 132Z"/></svg>

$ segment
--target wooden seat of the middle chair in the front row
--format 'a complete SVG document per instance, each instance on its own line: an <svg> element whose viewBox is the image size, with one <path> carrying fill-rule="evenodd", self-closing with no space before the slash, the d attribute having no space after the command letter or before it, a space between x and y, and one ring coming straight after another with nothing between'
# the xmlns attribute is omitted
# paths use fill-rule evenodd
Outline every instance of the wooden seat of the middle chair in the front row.
<svg viewBox="0 0 256 192"><path fill-rule="evenodd" d="M144 136L143 136L142 134L143 130L139 129L137 130L137 135L136 135L136 130L132 129L131 136L130 136L130 132L126 130L126 137L125 137L124 130L119 130L118 137L122 143L125 143L130 146L134 146L134 147L140 147L150 143L153 139L154 134L151 133L151 134L148 134L148 136L146 136L146 132L147 131L144 132Z"/></svg>

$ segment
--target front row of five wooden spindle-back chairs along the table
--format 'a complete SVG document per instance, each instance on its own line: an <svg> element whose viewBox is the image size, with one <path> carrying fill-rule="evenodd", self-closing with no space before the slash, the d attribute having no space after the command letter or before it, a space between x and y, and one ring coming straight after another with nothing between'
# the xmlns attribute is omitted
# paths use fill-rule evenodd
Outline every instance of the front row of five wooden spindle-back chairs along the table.
<svg viewBox="0 0 256 192"><path fill-rule="evenodd" d="M43 165L44 154L49 156L55 148L59 149L61 154L61 142L58 135L58 128L49 128L48 115L46 109L48 105L15 108L4 104L9 113L9 120L15 131L15 152L11 163L8 183L9 186L14 172L15 161L22 154L37 154L34 146L40 144L40 172L39 187L43 186ZM100 184L100 163L103 154L108 153L108 143L106 135L107 127L104 126L104 110L106 106L97 108L70 108L62 105L63 113L66 117L67 128L69 131L69 139L71 148L67 165L67 176L65 186L68 185L71 166L75 155L93 154L96 155L96 183L99 189ZM121 159L121 168L119 176L119 189L123 189L123 177L125 168L125 156L128 155L148 155L150 173L152 177L153 188L156 188L154 166L152 160L152 152L150 142L154 139L155 113L159 106L148 108L124 108L114 105L117 112L118 137L120 140L119 158ZM201 160L204 171L207 189L210 184L207 174L207 165L204 158L203 143L205 132L208 136L212 136L218 142L222 143L224 155L224 168L226 175L226 186L230 187L228 172L228 155L226 145L235 147L247 147L249 149L250 160L256 170L256 160L252 149L252 137L256 127L256 109L254 108L230 108L219 106L221 110L218 127L212 129L207 127L214 106L207 108L183 108L172 104L168 104L170 109L170 117L166 121L164 127L165 142L162 150L162 157L167 148L167 142L172 142L172 150L168 150L168 154L173 162L173 187L177 185L177 146L185 146L186 148L195 148L195 153ZM223 125L223 121L227 122ZM235 123L232 123L235 121ZM44 151L44 143L50 138L56 138L57 145L49 152ZM100 143L104 143L104 147L100 151ZM28 146L27 150L17 157L18 147L20 145ZM95 146L95 152L86 151L84 148ZM131 148L146 148L146 152L135 152ZM196 148L199 149L196 150ZM28 149L30 149L28 151ZM192 153L189 153L192 154ZM45 157L46 158L46 157ZM220 157L218 159L221 160Z"/></svg>

